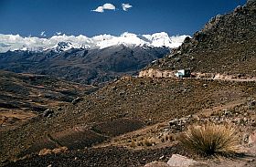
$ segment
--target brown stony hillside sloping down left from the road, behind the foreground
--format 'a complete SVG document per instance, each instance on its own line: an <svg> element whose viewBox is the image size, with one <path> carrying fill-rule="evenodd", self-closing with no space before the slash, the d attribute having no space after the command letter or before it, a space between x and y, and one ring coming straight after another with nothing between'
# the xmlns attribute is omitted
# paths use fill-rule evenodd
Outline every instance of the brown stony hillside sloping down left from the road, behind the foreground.
<svg viewBox="0 0 256 167"><path fill-rule="evenodd" d="M255 88L255 82L123 78L78 104L54 110L50 118L37 117L16 130L2 132L2 161L44 148L91 147L123 133L220 104L236 100L243 103L244 99L255 97L255 89L251 88Z"/></svg>

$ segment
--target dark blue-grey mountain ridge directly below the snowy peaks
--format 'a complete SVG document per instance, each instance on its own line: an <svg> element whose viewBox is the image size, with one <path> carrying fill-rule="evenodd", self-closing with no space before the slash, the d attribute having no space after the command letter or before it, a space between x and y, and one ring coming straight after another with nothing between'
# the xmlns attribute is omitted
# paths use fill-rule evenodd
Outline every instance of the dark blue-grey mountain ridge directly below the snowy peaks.
<svg viewBox="0 0 256 167"><path fill-rule="evenodd" d="M169 47L116 45L105 48L70 48L61 43L46 51L0 53L0 69L49 75L80 83L101 83L125 74L136 74L148 63L170 53Z"/></svg>

